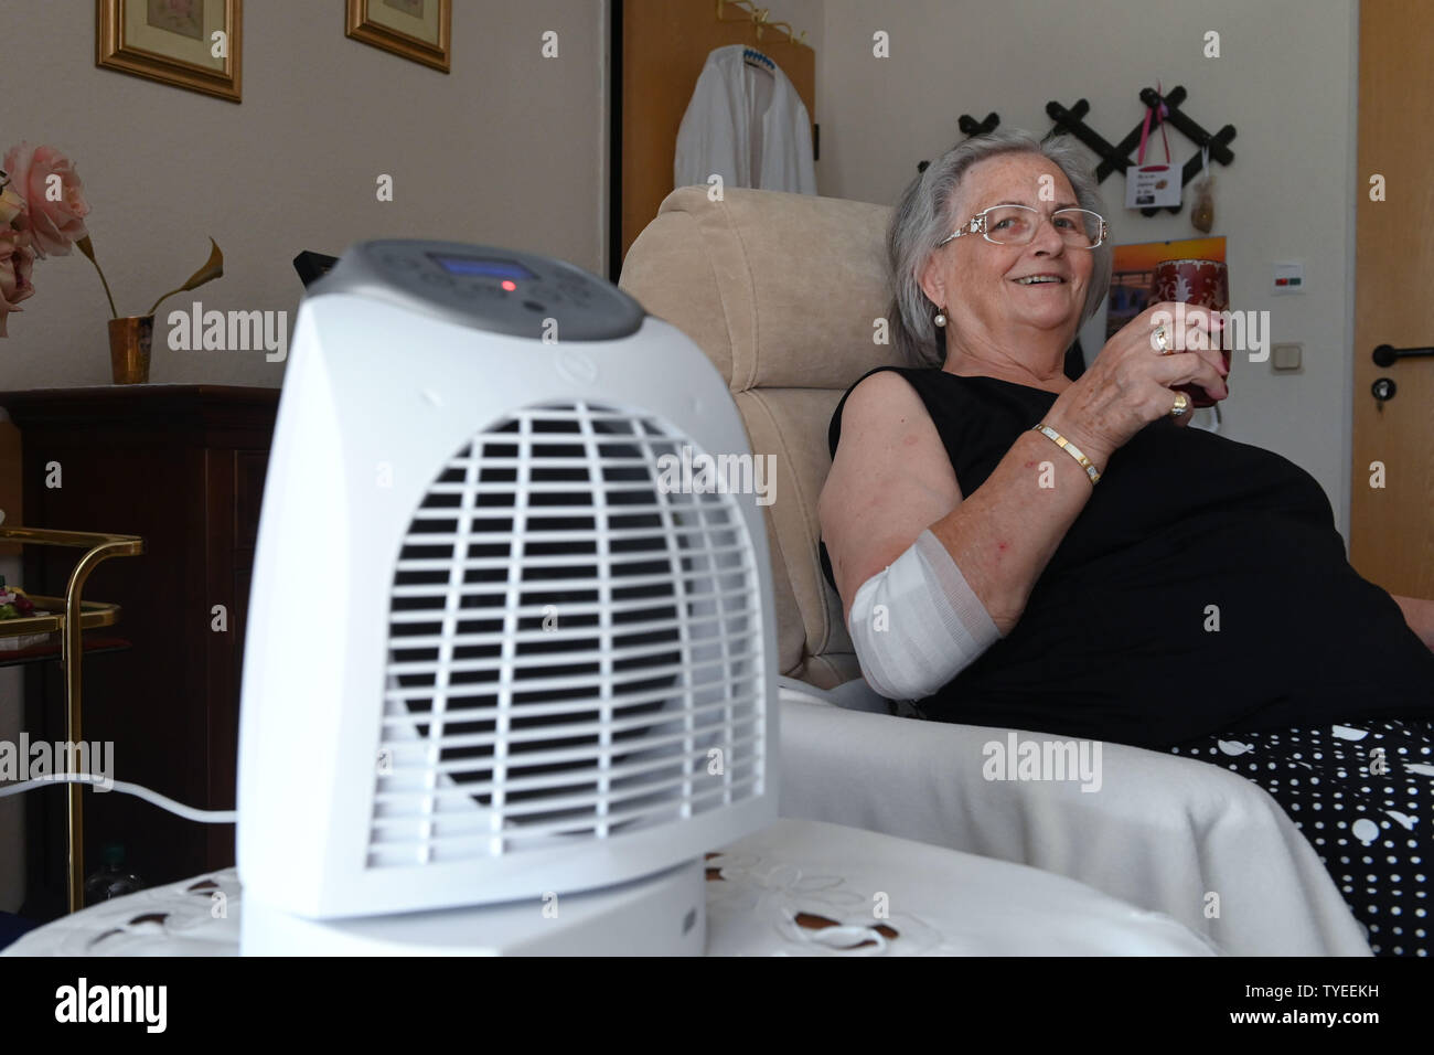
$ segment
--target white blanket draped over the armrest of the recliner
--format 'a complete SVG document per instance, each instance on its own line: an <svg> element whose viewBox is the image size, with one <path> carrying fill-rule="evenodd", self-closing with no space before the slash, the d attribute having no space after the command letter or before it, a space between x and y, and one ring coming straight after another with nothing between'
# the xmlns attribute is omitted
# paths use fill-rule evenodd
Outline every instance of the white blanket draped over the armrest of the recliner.
<svg viewBox="0 0 1434 1055"><path fill-rule="evenodd" d="M1005 729L780 706L783 817L1068 876L1166 913L1236 956L1371 955L1314 847L1235 772L1104 744L1096 792L1074 779L988 781L982 746L1004 744Z"/></svg>

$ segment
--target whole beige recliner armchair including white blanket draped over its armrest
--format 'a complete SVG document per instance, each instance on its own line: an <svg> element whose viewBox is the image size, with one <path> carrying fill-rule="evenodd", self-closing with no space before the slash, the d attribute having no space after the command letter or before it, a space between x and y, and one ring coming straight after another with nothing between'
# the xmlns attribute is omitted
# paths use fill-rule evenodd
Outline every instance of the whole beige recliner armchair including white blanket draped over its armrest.
<svg viewBox="0 0 1434 1055"><path fill-rule="evenodd" d="M1084 779L1002 779L988 765L1055 738L898 718L860 679L817 555L827 425L866 370L889 293L891 210L683 187L621 286L727 379L753 452L776 455L766 507L782 689L782 814L1027 864L1173 916L1235 955L1369 955L1314 848L1253 782L1207 762L1088 745Z"/></svg>

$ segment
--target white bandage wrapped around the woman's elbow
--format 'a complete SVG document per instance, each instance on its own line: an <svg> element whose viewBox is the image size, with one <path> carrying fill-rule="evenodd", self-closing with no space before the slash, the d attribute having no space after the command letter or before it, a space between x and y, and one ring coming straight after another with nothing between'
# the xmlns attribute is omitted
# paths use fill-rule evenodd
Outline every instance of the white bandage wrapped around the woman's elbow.
<svg viewBox="0 0 1434 1055"><path fill-rule="evenodd" d="M1001 639L931 528L862 583L846 629L862 676L886 699L929 696Z"/></svg>

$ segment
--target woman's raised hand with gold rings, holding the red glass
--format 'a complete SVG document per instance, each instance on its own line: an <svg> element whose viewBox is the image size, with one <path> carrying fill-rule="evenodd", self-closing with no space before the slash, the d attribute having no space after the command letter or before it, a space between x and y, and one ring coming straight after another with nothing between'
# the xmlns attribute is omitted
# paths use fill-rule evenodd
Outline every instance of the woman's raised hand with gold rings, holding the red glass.
<svg viewBox="0 0 1434 1055"><path fill-rule="evenodd" d="M1174 386L1199 385L1215 400L1229 395L1219 316L1193 304L1183 304L1182 310L1183 342L1173 324L1166 324L1166 342L1172 349L1183 346L1189 352L1160 353L1153 317L1157 311L1174 317L1176 304L1152 304L1106 343L1090 369L1051 406L1045 423L1098 468L1140 429L1170 413Z"/></svg>

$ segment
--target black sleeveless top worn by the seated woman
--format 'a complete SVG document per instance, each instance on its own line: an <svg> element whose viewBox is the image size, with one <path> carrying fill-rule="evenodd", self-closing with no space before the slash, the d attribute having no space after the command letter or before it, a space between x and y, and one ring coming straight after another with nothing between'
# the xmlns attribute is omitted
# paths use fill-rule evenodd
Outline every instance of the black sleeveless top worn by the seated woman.
<svg viewBox="0 0 1434 1055"><path fill-rule="evenodd" d="M995 378L885 369L921 395L962 495L1057 398ZM833 456L845 403L827 433ZM1068 455L1051 444L1057 456ZM822 568L835 590L825 544ZM1349 567L1314 477L1166 418L1103 466L1015 627L916 709L1169 748L1222 732L1434 718L1434 652Z"/></svg>

